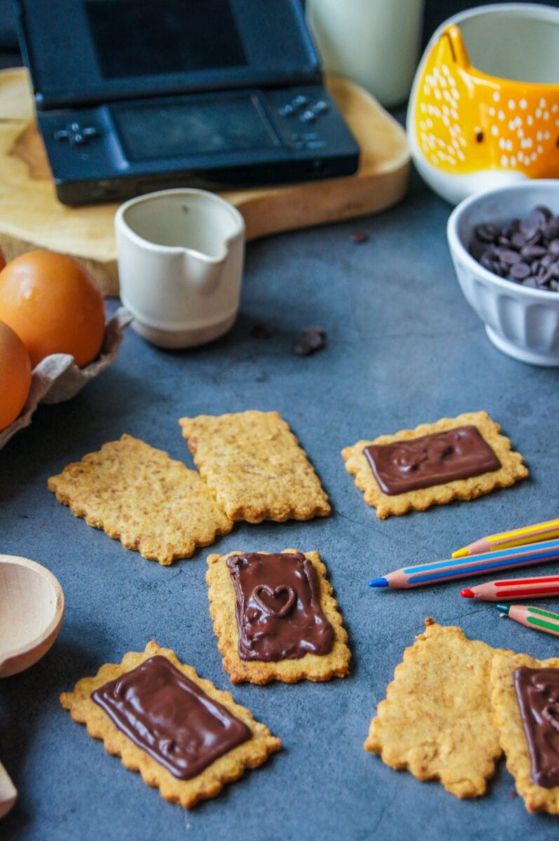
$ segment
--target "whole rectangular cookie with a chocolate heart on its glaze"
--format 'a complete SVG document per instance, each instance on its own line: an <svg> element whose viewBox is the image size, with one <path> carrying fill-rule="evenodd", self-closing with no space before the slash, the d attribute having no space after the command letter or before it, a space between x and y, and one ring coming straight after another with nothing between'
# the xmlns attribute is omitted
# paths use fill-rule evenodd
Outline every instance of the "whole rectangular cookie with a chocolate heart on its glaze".
<svg viewBox="0 0 559 841"><path fill-rule="evenodd" d="M206 580L217 646L232 683L348 674L348 635L317 552L210 555Z"/></svg>

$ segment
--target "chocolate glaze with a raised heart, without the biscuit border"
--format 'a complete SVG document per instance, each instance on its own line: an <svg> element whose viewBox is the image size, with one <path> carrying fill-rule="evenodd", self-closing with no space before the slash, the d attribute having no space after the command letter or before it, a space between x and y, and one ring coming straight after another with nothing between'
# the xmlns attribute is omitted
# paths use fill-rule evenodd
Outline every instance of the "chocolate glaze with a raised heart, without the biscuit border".
<svg viewBox="0 0 559 841"><path fill-rule="evenodd" d="M320 606L320 586L301 552L257 552L227 558L237 595L242 660L295 660L332 650L333 627Z"/></svg>

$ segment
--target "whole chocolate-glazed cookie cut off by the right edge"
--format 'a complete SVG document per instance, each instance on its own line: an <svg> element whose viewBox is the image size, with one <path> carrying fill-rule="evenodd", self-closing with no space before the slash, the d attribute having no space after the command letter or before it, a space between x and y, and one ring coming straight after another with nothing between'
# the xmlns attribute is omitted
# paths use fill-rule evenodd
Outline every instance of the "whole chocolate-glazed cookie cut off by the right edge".
<svg viewBox="0 0 559 841"><path fill-rule="evenodd" d="M529 812L559 814L559 659L495 653L492 704L516 791Z"/></svg>

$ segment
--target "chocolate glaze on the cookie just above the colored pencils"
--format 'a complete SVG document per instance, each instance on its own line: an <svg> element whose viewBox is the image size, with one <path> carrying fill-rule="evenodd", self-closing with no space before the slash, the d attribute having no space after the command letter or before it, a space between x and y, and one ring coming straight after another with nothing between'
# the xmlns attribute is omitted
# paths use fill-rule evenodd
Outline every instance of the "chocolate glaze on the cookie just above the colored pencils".
<svg viewBox="0 0 559 841"><path fill-rule="evenodd" d="M455 426L408 441L370 444L363 450L382 492L405 494L501 467L476 426Z"/></svg>

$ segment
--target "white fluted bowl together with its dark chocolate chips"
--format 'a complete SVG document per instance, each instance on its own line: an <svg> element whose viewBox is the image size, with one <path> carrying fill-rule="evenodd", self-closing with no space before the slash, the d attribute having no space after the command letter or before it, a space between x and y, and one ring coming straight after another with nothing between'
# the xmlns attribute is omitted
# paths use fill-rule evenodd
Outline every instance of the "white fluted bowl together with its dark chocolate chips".
<svg viewBox="0 0 559 841"><path fill-rule="evenodd" d="M559 366L559 180L475 193L450 214L450 254L493 345Z"/></svg>

